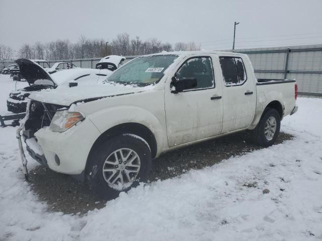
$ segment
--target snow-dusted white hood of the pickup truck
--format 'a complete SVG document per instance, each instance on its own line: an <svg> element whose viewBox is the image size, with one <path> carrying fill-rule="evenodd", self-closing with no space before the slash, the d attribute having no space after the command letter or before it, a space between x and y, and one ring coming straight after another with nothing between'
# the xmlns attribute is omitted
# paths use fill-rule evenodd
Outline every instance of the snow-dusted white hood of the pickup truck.
<svg viewBox="0 0 322 241"><path fill-rule="evenodd" d="M123 85L115 83L95 84L78 87L61 87L56 89L44 89L32 93L29 98L44 103L59 104L69 106L78 101L88 99L99 99L115 95L137 93L153 88L153 85L136 87L133 85Z"/></svg>

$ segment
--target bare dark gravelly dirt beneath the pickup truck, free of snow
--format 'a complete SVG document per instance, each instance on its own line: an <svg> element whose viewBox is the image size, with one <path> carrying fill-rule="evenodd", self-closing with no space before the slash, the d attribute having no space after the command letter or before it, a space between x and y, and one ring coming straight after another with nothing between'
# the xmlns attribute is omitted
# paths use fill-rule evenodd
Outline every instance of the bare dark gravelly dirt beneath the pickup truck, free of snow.
<svg viewBox="0 0 322 241"><path fill-rule="evenodd" d="M276 144L292 138L291 135L280 133ZM173 178L190 169L202 169L231 156L244 155L261 148L252 144L246 132L181 148L155 159L149 180ZM40 201L47 202L52 211L84 214L106 204L85 183L68 175L53 172L43 166L37 166L29 174L33 191Z"/></svg>

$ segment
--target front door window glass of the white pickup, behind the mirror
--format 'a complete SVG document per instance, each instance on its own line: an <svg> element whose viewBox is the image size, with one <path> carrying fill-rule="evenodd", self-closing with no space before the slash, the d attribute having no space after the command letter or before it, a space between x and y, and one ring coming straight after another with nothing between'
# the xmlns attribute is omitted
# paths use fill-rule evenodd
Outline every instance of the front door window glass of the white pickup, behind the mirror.
<svg viewBox="0 0 322 241"><path fill-rule="evenodd" d="M196 78L198 85L194 89L214 87L212 63L210 57L188 59L178 70L177 78Z"/></svg>

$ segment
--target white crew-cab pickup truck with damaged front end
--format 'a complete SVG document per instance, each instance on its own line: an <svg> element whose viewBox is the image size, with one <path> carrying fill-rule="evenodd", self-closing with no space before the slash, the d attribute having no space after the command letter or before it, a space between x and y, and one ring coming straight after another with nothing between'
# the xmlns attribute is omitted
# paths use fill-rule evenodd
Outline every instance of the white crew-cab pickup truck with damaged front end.
<svg viewBox="0 0 322 241"><path fill-rule="evenodd" d="M245 54L166 52L135 58L105 84L30 98L29 154L108 197L145 181L152 159L176 148L245 130L272 145L297 111L297 84L257 80Z"/></svg>

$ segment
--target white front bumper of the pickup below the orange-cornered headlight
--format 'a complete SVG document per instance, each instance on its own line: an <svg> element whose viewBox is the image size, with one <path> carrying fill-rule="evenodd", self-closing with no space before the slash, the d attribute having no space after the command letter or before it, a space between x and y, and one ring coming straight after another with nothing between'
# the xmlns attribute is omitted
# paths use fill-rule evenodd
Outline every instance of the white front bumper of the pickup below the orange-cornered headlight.
<svg viewBox="0 0 322 241"><path fill-rule="evenodd" d="M31 156L55 172L82 174L91 148L100 135L101 133L88 118L62 133L52 132L48 127L42 128L35 133L35 137L44 157ZM55 161L57 157L59 165Z"/></svg>

